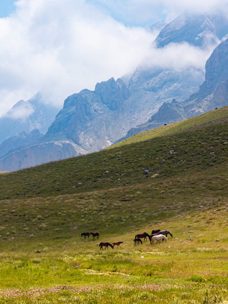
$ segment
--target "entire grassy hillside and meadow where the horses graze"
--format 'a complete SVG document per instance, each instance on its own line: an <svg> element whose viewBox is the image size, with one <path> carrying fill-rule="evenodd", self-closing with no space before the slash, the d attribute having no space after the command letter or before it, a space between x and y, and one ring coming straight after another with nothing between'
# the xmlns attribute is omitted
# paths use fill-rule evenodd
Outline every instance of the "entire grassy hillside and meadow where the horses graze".
<svg viewBox="0 0 228 304"><path fill-rule="evenodd" d="M0 303L227 303L227 123L225 107L0 175ZM134 245L156 228L174 237Z"/></svg>

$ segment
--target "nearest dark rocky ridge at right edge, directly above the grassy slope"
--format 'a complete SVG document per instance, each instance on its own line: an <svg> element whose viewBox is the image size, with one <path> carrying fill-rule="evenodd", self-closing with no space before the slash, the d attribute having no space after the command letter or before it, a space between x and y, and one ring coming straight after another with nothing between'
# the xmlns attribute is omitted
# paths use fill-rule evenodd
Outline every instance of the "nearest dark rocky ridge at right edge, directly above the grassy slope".
<svg viewBox="0 0 228 304"><path fill-rule="evenodd" d="M124 140L136 133L161 126L164 123L186 119L228 105L228 39L215 48L205 65L205 81L198 92L182 102L163 103L158 112L144 124L130 129Z"/></svg>

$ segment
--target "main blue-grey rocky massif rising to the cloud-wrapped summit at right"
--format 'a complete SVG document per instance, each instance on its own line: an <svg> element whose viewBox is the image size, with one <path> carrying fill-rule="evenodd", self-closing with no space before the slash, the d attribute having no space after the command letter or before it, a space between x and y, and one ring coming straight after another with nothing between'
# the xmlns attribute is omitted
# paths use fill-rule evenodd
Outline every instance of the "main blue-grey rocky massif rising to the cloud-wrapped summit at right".
<svg viewBox="0 0 228 304"><path fill-rule="evenodd" d="M154 44L158 50L169 43L188 42L199 49L214 45L228 33L226 18L221 23L218 18L183 14L163 27ZM171 68L144 62L128 77L110 78L97 83L94 91L84 89L69 96L47 133L33 146L7 154L0 160L0 170L19 170L98 151L120 138L197 115L206 105L214 108L227 92L226 71L221 67L226 56L218 49L214 52L206 63L206 78L204 71L193 66ZM215 78L220 81L217 85ZM194 93L199 86L200 93Z"/></svg>

